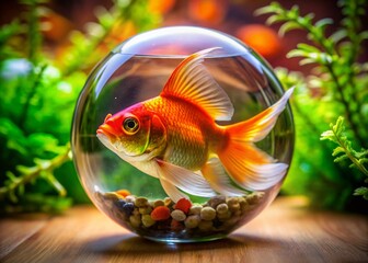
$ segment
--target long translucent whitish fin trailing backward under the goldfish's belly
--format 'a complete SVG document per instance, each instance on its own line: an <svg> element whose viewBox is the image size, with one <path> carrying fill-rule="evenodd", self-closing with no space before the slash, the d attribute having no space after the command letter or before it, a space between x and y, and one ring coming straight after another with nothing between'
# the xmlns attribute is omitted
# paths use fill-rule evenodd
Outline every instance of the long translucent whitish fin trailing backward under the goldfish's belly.
<svg viewBox="0 0 368 263"><path fill-rule="evenodd" d="M196 196L211 197L216 195L202 175L162 160L157 160L157 162L160 167L160 176L177 188Z"/></svg>

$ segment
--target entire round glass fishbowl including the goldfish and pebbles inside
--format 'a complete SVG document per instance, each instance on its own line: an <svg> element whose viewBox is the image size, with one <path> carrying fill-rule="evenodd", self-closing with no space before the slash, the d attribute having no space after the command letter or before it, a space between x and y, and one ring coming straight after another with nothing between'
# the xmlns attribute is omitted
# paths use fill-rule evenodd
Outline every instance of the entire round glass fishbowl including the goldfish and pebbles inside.
<svg viewBox="0 0 368 263"><path fill-rule="evenodd" d="M225 238L279 192L294 149L290 93L227 34L172 26L136 35L79 96L80 181L102 213L143 238Z"/></svg>

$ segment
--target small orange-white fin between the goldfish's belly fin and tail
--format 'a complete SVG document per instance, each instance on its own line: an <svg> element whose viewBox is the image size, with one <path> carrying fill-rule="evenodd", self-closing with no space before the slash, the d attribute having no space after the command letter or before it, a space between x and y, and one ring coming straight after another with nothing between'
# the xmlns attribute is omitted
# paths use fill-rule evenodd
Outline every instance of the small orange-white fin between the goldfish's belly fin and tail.
<svg viewBox="0 0 368 263"><path fill-rule="evenodd" d="M216 192L226 196L244 195L244 191L232 185L231 179L226 173L222 163L218 158L209 159L203 167L202 173Z"/></svg>

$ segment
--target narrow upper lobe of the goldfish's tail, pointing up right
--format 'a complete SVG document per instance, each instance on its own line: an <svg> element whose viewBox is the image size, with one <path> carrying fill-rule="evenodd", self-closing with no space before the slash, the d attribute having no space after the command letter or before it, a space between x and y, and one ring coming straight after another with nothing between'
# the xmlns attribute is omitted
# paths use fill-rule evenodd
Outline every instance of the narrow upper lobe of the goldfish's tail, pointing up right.
<svg viewBox="0 0 368 263"><path fill-rule="evenodd" d="M294 88L287 90L280 100L254 117L227 126L231 138L253 142L264 139L275 126L277 117L285 110L292 91Z"/></svg>

